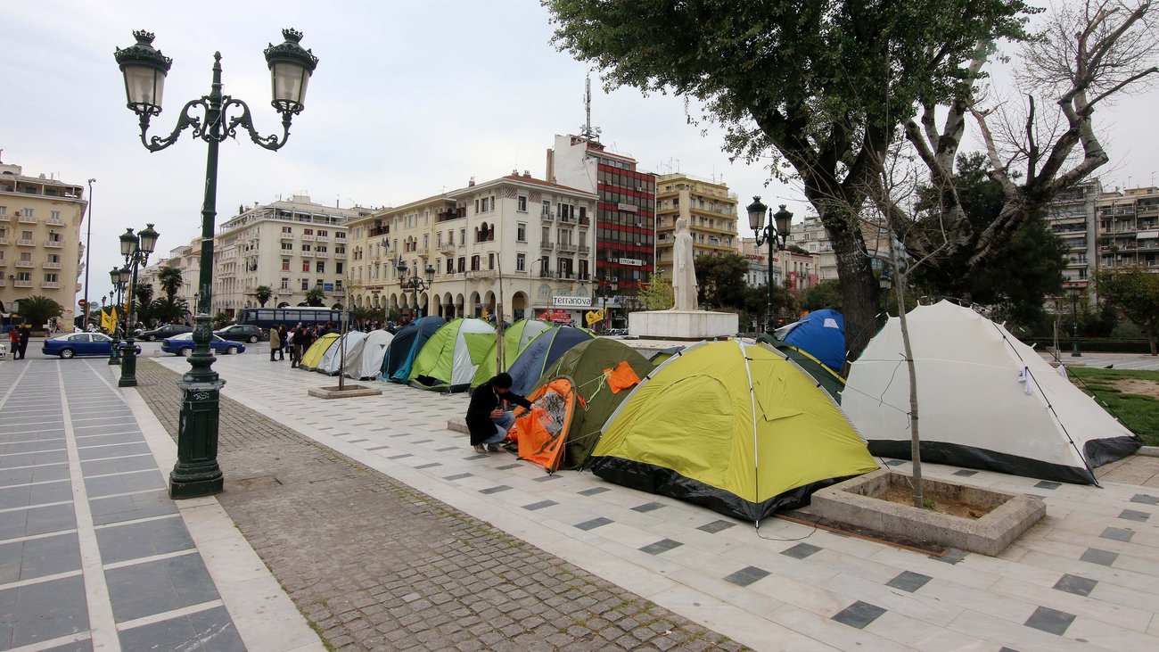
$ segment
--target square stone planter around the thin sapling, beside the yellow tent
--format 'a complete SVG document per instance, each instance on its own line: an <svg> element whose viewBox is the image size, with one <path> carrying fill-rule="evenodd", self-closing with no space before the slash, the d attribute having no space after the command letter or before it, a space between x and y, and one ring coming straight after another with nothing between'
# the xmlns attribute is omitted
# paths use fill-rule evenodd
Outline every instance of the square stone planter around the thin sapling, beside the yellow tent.
<svg viewBox="0 0 1159 652"><path fill-rule="evenodd" d="M968 502L985 514L968 519L876 498L891 485L899 484L910 491L911 483L910 476L881 469L814 493L809 513L887 535L990 556L1000 553L1047 514L1047 505L1037 498L930 479L923 481L926 498L934 502Z"/></svg>

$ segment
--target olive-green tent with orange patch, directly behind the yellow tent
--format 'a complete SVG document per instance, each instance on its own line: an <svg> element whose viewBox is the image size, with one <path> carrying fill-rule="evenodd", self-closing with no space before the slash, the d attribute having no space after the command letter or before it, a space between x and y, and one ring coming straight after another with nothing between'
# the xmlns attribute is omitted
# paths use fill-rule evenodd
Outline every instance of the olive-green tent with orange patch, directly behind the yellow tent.
<svg viewBox="0 0 1159 652"><path fill-rule="evenodd" d="M581 403L575 406L564 433L567 452L561 469L577 469L588 461L591 449L599 441L604 422L630 393L630 387L613 391L608 386L605 370L615 369L621 362L627 362L640 378L653 369L644 356L621 341L596 338L568 349L535 384L538 389L556 378L567 378L580 397Z"/></svg>

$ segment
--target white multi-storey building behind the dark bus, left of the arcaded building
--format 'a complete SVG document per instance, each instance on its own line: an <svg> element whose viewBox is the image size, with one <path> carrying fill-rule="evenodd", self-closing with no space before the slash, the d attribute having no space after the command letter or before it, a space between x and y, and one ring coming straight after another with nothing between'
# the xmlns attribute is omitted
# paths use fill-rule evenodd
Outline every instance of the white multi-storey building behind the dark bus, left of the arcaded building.
<svg viewBox="0 0 1159 652"><path fill-rule="evenodd" d="M256 306L254 291L261 285L274 291L271 305L305 304L315 288L326 305L345 305L347 222L369 213L318 204L306 195L238 207L213 238L210 310L233 314Z"/></svg>

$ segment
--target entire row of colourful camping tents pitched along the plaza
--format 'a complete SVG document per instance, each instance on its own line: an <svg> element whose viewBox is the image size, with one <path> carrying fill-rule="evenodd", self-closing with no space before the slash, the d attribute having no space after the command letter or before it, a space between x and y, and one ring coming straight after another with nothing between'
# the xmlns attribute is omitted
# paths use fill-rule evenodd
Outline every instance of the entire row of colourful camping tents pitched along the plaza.
<svg viewBox="0 0 1159 652"><path fill-rule="evenodd" d="M924 461L1093 484L1096 466L1142 444L1001 325L948 302L907 318ZM814 319L841 331L832 320ZM404 346L403 329L385 347L382 378L457 389L490 377L494 332L447 328L452 321L423 335L422 321ZM759 522L877 469L874 456L910 457L897 318L852 363L847 382L822 362L844 363L844 352L818 357L787 341L722 340L648 360L618 340L534 324L504 333L504 362L518 374L513 390L534 401L510 436L520 458L548 472L590 469ZM532 347L538 353L527 355ZM469 375L458 368L466 360Z"/></svg>

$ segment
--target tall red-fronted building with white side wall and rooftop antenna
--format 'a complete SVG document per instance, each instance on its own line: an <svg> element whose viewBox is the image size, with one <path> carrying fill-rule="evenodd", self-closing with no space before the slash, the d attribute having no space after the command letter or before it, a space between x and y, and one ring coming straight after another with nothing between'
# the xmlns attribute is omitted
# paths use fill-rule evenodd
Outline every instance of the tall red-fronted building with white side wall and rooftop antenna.
<svg viewBox="0 0 1159 652"><path fill-rule="evenodd" d="M617 283L615 303L635 296L656 269L656 175L592 137L555 136L546 179L598 195L593 278Z"/></svg>

